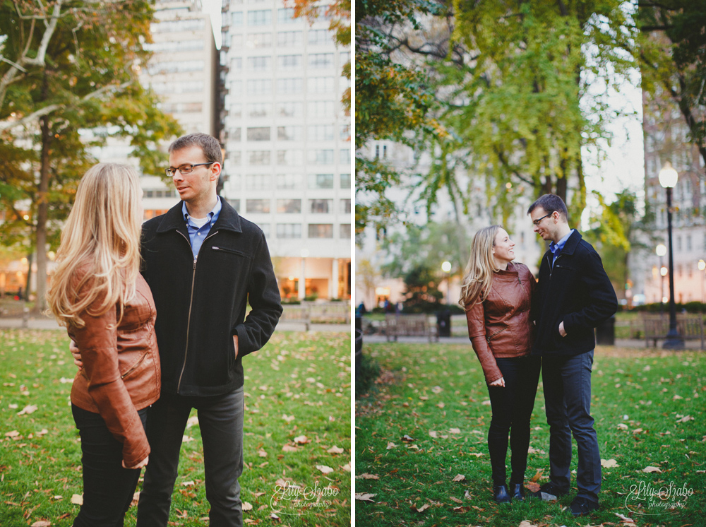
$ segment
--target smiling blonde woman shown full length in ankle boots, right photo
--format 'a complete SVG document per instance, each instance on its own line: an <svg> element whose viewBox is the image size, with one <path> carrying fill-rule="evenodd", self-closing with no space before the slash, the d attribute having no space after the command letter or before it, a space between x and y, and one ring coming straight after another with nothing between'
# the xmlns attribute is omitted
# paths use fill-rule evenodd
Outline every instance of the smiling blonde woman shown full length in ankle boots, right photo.
<svg viewBox="0 0 706 527"><path fill-rule="evenodd" d="M459 303L466 310L468 336L481 362L493 418L488 449L493 498L498 503L525 498L530 416L540 361L530 356L534 324L530 316L537 283L527 266L513 263L515 242L500 225L479 230L463 278ZM505 480L508 432L512 451L510 490Z"/></svg>

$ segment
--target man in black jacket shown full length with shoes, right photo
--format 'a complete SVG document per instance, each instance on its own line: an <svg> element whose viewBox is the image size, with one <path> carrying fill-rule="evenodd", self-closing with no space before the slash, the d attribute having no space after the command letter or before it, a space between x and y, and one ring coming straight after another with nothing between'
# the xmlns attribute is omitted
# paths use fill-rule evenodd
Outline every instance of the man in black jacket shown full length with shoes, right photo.
<svg viewBox="0 0 706 527"><path fill-rule="evenodd" d="M532 354L542 356L550 466L549 482L534 497L568 494L573 433L578 492L570 509L574 516L583 516L598 509L601 489L601 456L590 413L594 328L616 312L618 299L601 257L569 227L566 204L559 196L544 194L527 214L534 232L551 242L539 266L532 302L537 322Z"/></svg>

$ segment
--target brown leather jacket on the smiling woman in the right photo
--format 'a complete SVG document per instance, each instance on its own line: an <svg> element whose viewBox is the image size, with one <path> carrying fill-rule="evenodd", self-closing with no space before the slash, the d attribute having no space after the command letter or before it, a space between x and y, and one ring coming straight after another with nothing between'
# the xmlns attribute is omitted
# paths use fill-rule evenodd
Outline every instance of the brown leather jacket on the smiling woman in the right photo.
<svg viewBox="0 0 706 527"><path fill-rule="evenodd" d="M510 263L507 271L493 273L486 300L466 307L468 336L488 384L503 377L495 357L530 355L534 341L530 307L536 288L527 266Z"/></svg>

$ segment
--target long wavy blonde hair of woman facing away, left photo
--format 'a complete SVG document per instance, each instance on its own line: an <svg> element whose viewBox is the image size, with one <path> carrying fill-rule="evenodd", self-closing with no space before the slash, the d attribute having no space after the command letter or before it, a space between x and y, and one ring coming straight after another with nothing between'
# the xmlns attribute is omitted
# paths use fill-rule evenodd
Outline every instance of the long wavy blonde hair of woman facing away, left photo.
<svg viewBox="0 0 706 527"><path fill-rule="evenodd" d="M122 318L140 272L139 203L133 167L99 163L84 174L61 232L59 265L47 292L49 310L60 324L83 327L79 314L89 307L88 314L100 316L116 305ZM99 299L97 307L91 305Z"/></svg>

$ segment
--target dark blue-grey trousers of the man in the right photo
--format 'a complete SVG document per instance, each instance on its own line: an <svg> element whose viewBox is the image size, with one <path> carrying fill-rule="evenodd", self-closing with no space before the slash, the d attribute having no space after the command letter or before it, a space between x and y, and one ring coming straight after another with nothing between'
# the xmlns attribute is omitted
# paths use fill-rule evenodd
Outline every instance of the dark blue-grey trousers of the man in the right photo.
<svg viewBox="0 0 706 527"><path fill-rule="evenodd" d="M572 357L543 357L542 381L549 425L549 480L561 489L571 483L571 434L578 447L577 497L598 502L601 454L591 417L593 350Z"/></svg>

